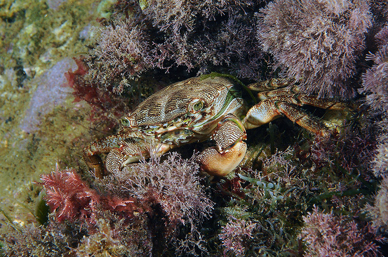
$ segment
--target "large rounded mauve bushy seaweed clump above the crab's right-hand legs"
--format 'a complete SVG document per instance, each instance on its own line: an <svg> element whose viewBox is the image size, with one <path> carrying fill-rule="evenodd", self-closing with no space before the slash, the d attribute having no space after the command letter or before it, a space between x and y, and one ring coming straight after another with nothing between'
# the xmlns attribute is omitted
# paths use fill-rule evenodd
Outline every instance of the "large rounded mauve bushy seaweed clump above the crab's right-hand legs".
<svg viewBox="0 0 388 257"><path fill-rule="evenodd" d="M350 98L365 33L372 26L366 0L275 0L260 10L258 39L275 67L301 82L305 93Z"/></svg>

